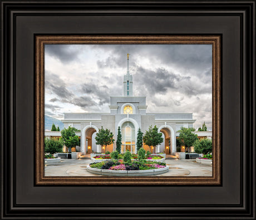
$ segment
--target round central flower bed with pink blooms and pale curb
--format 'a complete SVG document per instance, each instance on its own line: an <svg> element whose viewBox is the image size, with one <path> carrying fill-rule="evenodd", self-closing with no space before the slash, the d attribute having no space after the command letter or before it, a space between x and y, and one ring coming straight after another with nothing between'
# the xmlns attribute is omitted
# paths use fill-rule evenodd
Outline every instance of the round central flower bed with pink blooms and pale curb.
<svg viewBox="0 0 256 220"><path fill-rule="evenodd" d="M169 167L163 162L142 160L125 163L123 160L110 160L90 163L87 170L100 175L148 176L168 172Z"/></svg>

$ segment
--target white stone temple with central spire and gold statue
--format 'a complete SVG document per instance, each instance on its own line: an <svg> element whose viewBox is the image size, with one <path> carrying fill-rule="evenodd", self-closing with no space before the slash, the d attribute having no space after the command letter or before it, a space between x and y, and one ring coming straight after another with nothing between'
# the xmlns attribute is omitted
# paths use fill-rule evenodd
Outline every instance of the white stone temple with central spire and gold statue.
<svg viewBox="0 0 256 220"><path fill-rule="evenodd" d="M121 83L121 82L120 82ZM81 130L81 152L90 154L94 152L113 151L116 149L116 141L106 149L96 145L95 135L99 129L110 129L117 139L117 129L120 126L122 134L121 152L127 149L136 153L137 131L140 128L143 133L149 126L157 126L159 132L163 132L164 142L156 147L156 152L174 154L176 152L176 131L181 127L193 127L195 120L192 112L147 112L146 96L134 96L132 92L133 81L129 73L129 54L127 54L127 73L124 75L124 94L110 96L109 112L91 113L64 113L62 120L64 126L75 127ZM135 86L136 82L135 82ZM150 150L150 146L144 146Z"/></svg>

